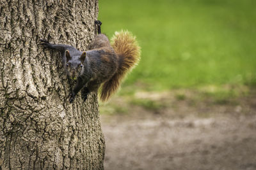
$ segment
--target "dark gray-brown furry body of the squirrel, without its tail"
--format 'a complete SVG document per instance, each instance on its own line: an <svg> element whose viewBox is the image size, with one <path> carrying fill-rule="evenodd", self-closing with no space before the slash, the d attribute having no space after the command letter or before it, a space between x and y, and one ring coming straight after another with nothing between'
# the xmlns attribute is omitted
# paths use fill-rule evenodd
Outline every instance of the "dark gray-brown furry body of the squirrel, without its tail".
<svg viewBox="0 0 256 170"><path fill-rule="evenodd" d="M118 61L116 53L109 43L108 38L104 34L95 36L92 45L93 50L86 52L86 58L81 63L81 55L83 52L70 45L54 45L48 41L42 40L45 45L61 53L61 60L65 70L67 70L68 78L76 79L76 85L70 92L70 103L74 101L74 97L81 89L86 92L82 96L88 95L89 92L97 91L105 81L109 80L115 74ZM67 60L66 51L70 53L70 60ZM83 65L83 67L81 67ZM85 98L86 99L86 98Z"/></svg>

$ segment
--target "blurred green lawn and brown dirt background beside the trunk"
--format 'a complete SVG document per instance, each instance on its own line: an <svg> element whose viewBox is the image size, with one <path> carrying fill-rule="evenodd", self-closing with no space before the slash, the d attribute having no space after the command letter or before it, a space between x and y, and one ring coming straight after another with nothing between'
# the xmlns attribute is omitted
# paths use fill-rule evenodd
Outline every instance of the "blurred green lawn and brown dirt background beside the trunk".
<svg viewBox="0 0 256 170"><path fill-rule="evenodd" d="M141 46L100 103L106 169L256 169L255 0L104 0L99 20Z"/></svg>

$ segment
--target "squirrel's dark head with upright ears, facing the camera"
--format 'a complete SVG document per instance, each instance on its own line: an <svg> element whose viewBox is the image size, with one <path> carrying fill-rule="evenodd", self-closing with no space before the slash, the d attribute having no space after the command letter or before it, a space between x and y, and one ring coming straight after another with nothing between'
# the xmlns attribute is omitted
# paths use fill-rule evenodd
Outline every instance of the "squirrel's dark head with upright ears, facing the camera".
<svg viewBox="0 0 256 170"><path fill-rule="evenodd" d="M68 76L72 78L72 80L76 80L84 70L84 59L86 57L86 52L83 52L81 56L70 56L69 51L66 51L67 57L67 72Z"/></svg>

